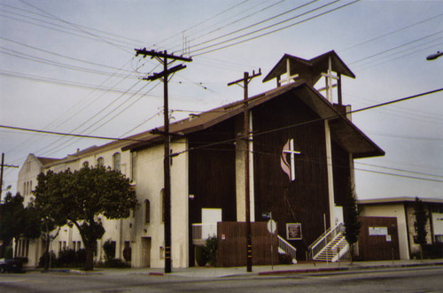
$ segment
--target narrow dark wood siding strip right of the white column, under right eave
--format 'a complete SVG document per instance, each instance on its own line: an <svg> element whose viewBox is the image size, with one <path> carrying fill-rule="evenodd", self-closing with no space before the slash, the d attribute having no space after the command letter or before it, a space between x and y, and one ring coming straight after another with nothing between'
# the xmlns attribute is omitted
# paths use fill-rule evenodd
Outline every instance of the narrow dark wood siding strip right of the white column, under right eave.
<svg viewBox="0 0 443 293"><path fill-rule="evenodd" d="M346 200L346 189L351 180L351 169L349 153L337 143L332 143L332 170L335 204L343 206Z"/></svg>

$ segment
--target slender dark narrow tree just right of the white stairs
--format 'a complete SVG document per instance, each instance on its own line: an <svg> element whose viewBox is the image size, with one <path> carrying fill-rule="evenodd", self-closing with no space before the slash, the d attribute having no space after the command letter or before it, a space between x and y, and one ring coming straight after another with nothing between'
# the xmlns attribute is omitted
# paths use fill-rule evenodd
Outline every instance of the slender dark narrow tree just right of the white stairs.
<svg viewBox="0 0 443 293"><path fill-rule="evenodd" d="M354 186L349 183L346 188L346 198L343 204L343 218L345 221L345 237L349 243L351 253L351 263L354 261L354 244L360 235L361 221L359 220L359 210L357 206L357 194Z"/></svg>

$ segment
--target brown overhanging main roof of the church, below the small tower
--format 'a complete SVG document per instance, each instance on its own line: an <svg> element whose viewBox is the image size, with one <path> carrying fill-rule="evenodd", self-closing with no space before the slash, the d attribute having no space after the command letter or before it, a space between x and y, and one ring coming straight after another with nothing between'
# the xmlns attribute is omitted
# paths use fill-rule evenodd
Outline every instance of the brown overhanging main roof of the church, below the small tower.
<svg viewBox="0 0 443 293"><path fill-rule="evenodd" d="M338 112L330 102L328 102L317 90L300 80L289 85L269 90L257 96L248 99L249 108L253 109L259 104L281 96L284 94L293 94L299 97L322 119L330 120L332 137L336 143L340 144L345 150L354 154L354 158L366 158L374 156L383 156L385 151L380 149L376 143L373 143L368 136L348 120L345 115ZM177 121L170 125L170 132L175 135L188 135L193 132L204 130L215 124L228 120L243 112L244 101L227 104L208 112L203 112L197 117ZM291 126L289 126L291 127ZM295 126L293 126L295 127ZM161 130L162 128L159 128ZM146 134L146 133L144 133ZM134 137L134 136L133 136ZM141 150L152 143L161 143L161 135L144 135L144 142L128 143L122 147L122 150Z"/></svg>

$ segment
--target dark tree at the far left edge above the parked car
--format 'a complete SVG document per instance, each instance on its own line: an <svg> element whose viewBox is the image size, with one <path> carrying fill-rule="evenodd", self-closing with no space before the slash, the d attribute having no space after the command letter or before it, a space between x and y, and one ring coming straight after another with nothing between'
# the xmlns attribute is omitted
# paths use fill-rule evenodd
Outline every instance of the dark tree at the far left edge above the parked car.
<svg viewBox="0 0 443 293"><path fill-rule="evenodd" d="M12 197L12 193L8 192L4 203L0 204L0 239L4 242L0 258L4 257L4 247L10 245L12 240L15 240L17 251L20 237L36 238L41 234L35 209L25 208L23 201L19 193Z"/></svg>

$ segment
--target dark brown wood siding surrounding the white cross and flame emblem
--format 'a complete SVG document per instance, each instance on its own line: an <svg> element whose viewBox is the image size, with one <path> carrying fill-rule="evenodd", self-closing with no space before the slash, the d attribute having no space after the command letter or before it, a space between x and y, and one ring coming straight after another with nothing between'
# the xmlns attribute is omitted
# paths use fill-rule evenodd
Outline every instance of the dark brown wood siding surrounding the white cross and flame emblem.
<svg viewBox="0 0 443 293"><path fill-rule="evenodd" d="M319 117L294 94L279 96L253 108L253 130L260 133L279 127L316 120ZM295 181L280 166L284 144L294 138ZM323 214L329 227L329 197L324 122L255 135L254 192L255 220L262 212L272 212L278 231L286 237L286 223L301 223L302 240L290 241L298 250L298 259L306 258L307 246L323 233Z"/></svg>

